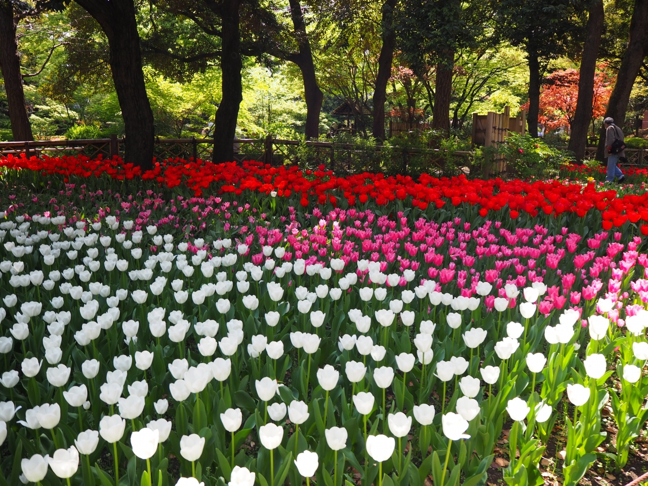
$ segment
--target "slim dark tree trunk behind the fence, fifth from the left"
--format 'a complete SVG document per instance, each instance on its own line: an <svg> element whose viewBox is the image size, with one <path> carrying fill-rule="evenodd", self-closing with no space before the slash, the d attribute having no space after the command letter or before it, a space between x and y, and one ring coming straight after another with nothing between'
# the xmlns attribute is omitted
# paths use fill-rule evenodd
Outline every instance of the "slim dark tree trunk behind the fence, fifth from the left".
<svg viewBox="0 0 648 486"><path fill-rule="evenodd" d="M376 140L385 138L385 100L387 84L391 76L391 64L394 60L396 32L393 28L394 8L397 0L386 0L382 4L382 47L378 57L378 74L373 92L373 137Z"/></svg>

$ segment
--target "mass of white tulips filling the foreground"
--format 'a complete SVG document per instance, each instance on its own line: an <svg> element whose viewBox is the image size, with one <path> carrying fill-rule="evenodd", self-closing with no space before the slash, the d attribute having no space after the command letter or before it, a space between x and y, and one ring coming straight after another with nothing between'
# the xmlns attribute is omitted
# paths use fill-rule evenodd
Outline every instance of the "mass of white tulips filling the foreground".
<svg viewBox="0 0 648 486"><path fill-rule="evenodd" d="M426 264L181 238L2 214L0 486L540 485L557 420L572 486L604 406L618 467L648 418L636 251L616 292L540 312L541 281L468 297Z"/></svg>

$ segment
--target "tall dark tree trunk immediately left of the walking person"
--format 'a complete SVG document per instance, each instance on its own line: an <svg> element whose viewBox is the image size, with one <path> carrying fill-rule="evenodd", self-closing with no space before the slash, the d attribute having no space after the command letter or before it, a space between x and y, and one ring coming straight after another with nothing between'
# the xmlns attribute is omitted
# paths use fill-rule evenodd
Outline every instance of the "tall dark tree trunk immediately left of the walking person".
<svg viewBox="0 0 648 486"><path fill-rule="evenodd" d="M592 102L594 100L594 75L596 73L596 58L601 47L603 34L603 0L594 0L590 6L587 19L587 35L583 45L581 73L578 80L578 100L576 112L571 125L572 134L569 139L569 150L575 154L576 160L581 161L587 146L587 133L592 119Z"/></svg>

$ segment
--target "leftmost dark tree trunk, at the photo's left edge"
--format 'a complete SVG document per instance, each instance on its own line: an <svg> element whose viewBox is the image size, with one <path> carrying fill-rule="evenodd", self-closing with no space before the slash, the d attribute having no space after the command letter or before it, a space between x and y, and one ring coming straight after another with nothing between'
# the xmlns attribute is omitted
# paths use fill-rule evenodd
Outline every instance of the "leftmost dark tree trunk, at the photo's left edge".
<svg viewBox="0 0 648 486"><path fill-rule="evenodd" d="M5 80L14 141L33 140L23 91L23 76L20 73L14 6L9 0L0 0L0 69Z"/></svg>

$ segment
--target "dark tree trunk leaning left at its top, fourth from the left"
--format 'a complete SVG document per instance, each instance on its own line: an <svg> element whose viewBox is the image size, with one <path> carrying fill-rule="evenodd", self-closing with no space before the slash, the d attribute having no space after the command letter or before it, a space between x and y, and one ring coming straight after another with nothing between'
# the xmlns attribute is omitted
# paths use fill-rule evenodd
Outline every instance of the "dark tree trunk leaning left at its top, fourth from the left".
<svg viewBox="0 0 648 486"><path fill-rule="evenodd" d="M318 80L315 75L315 64L313 53L310 50L310 41L306 32L306 23L299 0L290 0L290 14L292 17L293 30L299 46L299 54L291 60L301 70L301 78L304 82L304 95L306 99L306 139L318 139L319 137L319 113L322 108L324 95L319 89Z"/></svg>

